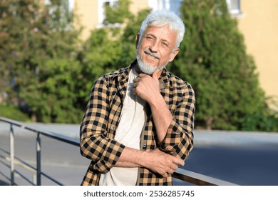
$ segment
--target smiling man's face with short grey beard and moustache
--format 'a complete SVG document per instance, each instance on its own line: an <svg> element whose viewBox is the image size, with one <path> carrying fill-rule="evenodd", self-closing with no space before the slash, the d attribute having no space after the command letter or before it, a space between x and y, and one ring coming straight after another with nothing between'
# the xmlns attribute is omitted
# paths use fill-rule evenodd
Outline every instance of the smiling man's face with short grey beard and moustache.
<svg viewBox="0 0 278 200"><path fill-rule="evenodd" d="M156 69L163 69L179 51L175 49L175 42L175 32L170 31L168 25L148 27L137 46L140 70L145 74L153 74Z"/></svg>

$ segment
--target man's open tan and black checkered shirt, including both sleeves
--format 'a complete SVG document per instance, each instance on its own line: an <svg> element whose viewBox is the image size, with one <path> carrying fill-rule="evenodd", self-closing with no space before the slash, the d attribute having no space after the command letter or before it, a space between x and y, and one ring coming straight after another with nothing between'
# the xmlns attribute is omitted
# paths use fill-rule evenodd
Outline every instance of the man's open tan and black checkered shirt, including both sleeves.
<svg viewBox="0 0 278 200"><path fill-rule="evenodd" d="M81 122L81 154L91 159L81 185L98 185L101 173L108 172L118 161L125 146L115 141L115 130L123 108L130 66L104 74L93 85ZM161 151L185 160L193 147L195 94L182 79L166 69L160 76L160 94L168 104L173 121L165 139L158 142L150 106L145 106L145 126L140 136L140 150ZM153 171L139 167L137 185L172 185L172 177L163 178Z"/></svg>

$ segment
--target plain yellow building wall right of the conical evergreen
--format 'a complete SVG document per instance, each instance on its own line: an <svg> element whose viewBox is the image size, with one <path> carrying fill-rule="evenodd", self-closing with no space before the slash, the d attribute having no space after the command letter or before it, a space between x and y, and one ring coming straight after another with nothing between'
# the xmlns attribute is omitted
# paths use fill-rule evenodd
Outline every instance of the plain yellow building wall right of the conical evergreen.
<svg viewBox="0 0 278 200"><path fill-rule="evenodd" d="M254 57L266 95L278 96L278 1L241 2L243 16L238 19L238 28L244 35L247 53Z"/></svg>

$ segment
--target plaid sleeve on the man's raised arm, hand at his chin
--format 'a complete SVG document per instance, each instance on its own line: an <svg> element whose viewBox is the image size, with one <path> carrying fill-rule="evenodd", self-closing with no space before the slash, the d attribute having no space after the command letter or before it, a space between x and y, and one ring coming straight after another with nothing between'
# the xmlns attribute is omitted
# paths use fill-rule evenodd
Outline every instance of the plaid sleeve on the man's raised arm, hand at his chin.
<svg viewBox="0 0 278 200"><path fill-rule="evenodd" d="M195 114L195 93L190 84L185 83L178 89L175 106L169 105L173 112L173 121L168 132L160 142L160 149L185 160L193 148L193 130ZM165 101L167 102L167 93ZM168 104L170 104L168 102Z"/></svg>

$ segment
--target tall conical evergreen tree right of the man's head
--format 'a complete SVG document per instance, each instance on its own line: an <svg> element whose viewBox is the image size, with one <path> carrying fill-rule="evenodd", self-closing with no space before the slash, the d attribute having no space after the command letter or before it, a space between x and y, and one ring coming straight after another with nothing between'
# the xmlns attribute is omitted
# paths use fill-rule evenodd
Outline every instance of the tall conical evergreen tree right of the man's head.
<svg viewBox="0 0 278 200"><path fill-rule="evenodd" d="M180 12L186 32L171 69L195 89L196 125L240 129L264 109L264 92L226 1L187 0Z"/></svg>

